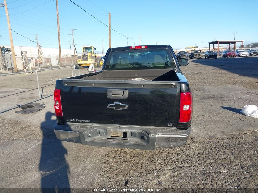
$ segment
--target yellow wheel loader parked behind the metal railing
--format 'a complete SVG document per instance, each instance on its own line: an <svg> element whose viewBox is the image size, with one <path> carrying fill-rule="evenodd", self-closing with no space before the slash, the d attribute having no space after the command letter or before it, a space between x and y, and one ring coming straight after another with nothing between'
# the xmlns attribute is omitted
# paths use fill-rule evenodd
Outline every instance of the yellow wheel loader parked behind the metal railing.
<svg viewBox="0 0 258 193"><path fill-rule="evenodd" d="M94 68L102 68L103 61L100 57L97 57L98 54L94 53L93 46L82 46L82 56L78 56L77 63L83 68L84 66L94 65Z"/></svg>

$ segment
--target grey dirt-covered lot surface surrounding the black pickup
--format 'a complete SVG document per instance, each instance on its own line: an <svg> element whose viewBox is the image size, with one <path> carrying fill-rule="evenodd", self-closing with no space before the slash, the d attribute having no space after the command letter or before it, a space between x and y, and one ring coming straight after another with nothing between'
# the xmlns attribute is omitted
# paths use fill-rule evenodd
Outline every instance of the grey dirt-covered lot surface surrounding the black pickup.
<svg viewBox="0 0 258 193"><path fill-rule="evenodd" d="M258 105L258 57L190 60L181 70L194 97L186 145L144 151L61 142L50 97L39 101L46 105L39 112L0 114L0 187L257 191L258 120L240 110ZM41 91L49 95L71 70L41 74ZM37 97L29 76L0 77L1 110Z"/></svg>

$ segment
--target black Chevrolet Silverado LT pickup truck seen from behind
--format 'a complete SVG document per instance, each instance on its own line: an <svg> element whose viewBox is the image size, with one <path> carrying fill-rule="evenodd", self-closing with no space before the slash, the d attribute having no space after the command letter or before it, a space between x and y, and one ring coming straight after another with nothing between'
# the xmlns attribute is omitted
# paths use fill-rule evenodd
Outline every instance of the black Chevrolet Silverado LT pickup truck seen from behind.
<svg viewBox="0 0 258 193"><path fill-rule="evenodd" d="M101 71L56 81L56 137L133 149L182 146L191 130L192 94L167 45L109 48Z"/></svg>

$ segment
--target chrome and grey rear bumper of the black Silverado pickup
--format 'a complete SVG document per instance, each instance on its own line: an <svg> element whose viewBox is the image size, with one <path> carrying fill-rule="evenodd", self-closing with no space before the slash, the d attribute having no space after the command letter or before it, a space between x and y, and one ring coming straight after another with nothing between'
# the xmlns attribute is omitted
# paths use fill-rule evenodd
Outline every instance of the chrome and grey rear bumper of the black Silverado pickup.
<svg viewBox="0 0 258 193"><path fill-rule="evenodd" d="M118 126L106 124L66 123L54 125L56 137L62 141L83 145L131 149L171 148L184 145L191 127ZM111 131L123 132L124 137L112 137Z"/></svg>

